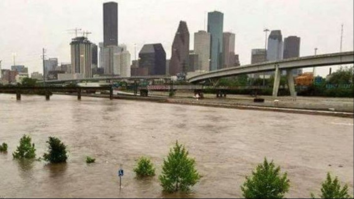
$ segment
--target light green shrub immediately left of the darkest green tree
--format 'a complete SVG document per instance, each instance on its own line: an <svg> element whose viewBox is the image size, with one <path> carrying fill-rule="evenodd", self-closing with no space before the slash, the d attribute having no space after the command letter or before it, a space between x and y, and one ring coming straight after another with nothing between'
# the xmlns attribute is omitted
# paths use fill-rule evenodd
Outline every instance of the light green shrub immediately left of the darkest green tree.
<svg viewBox="0 0 354 199"><path fill-rule="evenodd" d="M15 159L33 159L36 157L36 149L32 142L32 138L29 135L23 135L20 140L20 146L17 147L16 151L12 153Z"/></svg>

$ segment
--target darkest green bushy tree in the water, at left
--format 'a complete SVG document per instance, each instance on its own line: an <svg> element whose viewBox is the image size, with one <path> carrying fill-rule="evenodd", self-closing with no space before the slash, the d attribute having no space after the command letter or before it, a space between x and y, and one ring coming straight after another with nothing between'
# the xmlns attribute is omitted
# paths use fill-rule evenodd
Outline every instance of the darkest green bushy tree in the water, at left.
<svg viewBox="0 0 354 199"><path fill-rule="evenodd" d="M48 153L43 155L44 160L54 164L65 163L68 159L65 144L56 137L49 137L46 143L49 144L49 146Z"/></svg>

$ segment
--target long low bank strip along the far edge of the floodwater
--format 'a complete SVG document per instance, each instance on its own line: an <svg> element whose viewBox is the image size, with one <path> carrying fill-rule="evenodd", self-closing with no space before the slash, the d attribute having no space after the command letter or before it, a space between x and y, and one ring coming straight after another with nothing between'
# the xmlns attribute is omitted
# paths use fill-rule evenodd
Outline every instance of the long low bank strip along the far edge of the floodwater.
<svg viewBox="0 0 354 199"><path fill-rule="evenodd" d="M67 93L55 93L58 95L75 95L75 94L67 94ZM97 95L97 94L82 94L85 97L99 97L99 98L109 98L109 95ZM175 98L167 98L162 96L155 97L139 97L139 96L130 96L130 95L115 95L114 99L126 99L126 100L137 100L137 101L149 101L149 102L157 102L157 103L171 103L171 104L183 104L190 106L205 106L205 107L216 107L216 108L231 108L231 109L250 109L250 110L262 110L262 111L272 111L272 112L281 112L281 113L296 113L296 114L308 114L308 115L324 115L324 116L336 116L342 118L354 118L353 112L345 112L345 111L334 111L332 110L324 110L324 108L293 108L286 107L286 104L280 102L278 106L272 106L268 102L266 103L242 103L237 100L232 99L210 99L205 98L199 101L193 98L185 98L185 97L175 97Z"/></svg>

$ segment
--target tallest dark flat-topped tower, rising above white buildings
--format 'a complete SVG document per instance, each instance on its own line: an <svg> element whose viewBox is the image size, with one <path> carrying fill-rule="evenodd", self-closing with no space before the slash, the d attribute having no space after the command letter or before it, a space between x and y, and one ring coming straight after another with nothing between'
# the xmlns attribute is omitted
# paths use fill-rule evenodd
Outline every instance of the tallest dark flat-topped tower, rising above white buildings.
<svg viewBox="0 0 354 199"><path fill-rule="evenodd" d="M103 46L118 46L118 4L103 4Z"/></svg>

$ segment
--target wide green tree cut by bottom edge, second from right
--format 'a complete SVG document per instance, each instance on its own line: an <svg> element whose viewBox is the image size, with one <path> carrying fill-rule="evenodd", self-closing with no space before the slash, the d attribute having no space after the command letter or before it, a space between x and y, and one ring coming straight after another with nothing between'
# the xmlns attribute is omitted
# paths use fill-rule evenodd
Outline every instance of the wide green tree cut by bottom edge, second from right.
<svg viewBox="0 0 354 199"><path fill-rule="evenodd" d="M289 191L289 182L287 174L280 174L280 167L275 167L273 161L268 163L265 158L252 176L246 177L241 190L245 198L284 198Z"/></svg>

